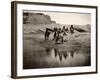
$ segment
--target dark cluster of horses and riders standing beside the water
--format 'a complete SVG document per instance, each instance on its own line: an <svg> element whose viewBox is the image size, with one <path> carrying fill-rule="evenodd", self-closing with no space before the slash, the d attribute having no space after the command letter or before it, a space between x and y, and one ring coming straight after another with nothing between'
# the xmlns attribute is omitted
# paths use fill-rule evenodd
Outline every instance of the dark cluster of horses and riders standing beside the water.
<svg viewBox="0 0 100 80"><path fill-rule="evenodd" d="M63 26L63 28L56 28L54 27L54 29L50 29L50 28L46 28L46 31L45 31L45 40L49 40L49 36L51 33L54 33L53 34L53 39L52 40L55 40L56 43L63 43L65 40L64 40L64 37L67 36L67 33L71 33L73 34L74 33L74 27L73 25L71 25L69 28L65 28L65 26Z"/></svg>

